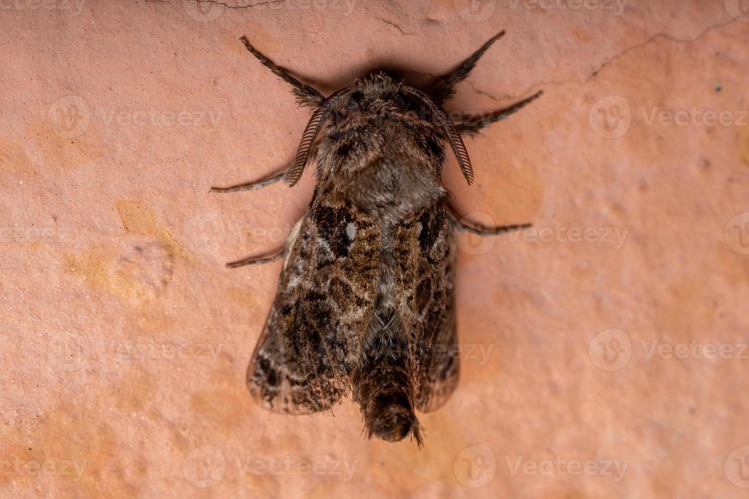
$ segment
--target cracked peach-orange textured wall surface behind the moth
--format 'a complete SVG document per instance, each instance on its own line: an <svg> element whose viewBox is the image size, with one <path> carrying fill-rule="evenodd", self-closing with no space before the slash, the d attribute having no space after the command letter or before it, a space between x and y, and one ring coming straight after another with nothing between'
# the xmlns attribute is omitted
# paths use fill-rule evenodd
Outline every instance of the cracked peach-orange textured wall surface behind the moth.
<svg viewBox="0 0 749 499"><path fill-rule="evenodd" d="M747 7L743 2L743 7ZM749 16L741 0L0 1L0 496L745 497ZM744 10L749 13L749 9ZM461 385L425 447L358 408L261 410L244 376L312 192L211 195L308 119L246 35L324 94L416 85L507 35L458 236Z"/></svg>

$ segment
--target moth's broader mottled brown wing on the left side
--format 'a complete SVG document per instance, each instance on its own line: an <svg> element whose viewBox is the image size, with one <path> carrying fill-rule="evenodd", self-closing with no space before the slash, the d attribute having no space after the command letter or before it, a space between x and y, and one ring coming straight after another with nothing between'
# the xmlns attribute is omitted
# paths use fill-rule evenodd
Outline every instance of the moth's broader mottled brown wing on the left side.
<svg viewBox="0 0 749 499"><path fill-rule="evenodd" d="M264 408L309 414L350 390L377 294L380 230L336 196L315 191L287 248L247 385Z"/></svg>

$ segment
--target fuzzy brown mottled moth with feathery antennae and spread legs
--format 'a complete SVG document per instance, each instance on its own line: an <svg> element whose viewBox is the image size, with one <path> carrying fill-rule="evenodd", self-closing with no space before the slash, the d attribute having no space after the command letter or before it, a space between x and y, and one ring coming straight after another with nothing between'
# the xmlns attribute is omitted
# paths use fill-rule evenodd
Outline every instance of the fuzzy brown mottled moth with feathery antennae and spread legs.
<svg viewBox="0 0 749 499"><path fill-rule="evenodd" d="M330 410L344 396L360 405L367 436L422 446L416 411L434 411L458 384L453 230L480 235L529 227L464 223L442 183L446 150L467 183L473 168L461 135L536 100L481 120L455 123L443 106L504 31L425 92L372 73L328 97L273 64L246 37L255 58L310 108L294 162L258 182L213 192L294 186L317 164L315 190L282 251L229 267L283 258L276 299L252 354L246 382L271 411Z"/></svg>

